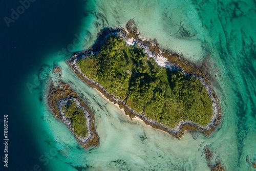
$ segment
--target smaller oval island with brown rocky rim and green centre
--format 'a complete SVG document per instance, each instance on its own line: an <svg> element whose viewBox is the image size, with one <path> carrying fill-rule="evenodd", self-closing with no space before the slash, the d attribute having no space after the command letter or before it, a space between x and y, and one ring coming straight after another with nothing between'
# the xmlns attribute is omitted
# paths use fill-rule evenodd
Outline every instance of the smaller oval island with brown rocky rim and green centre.
<svg viewBox="0 0 256 171"><path fill-rule="evenodd" d="M55 68L60 70L59 68ZM57 84L57 85L56 85ZM83 147L97 146L99 137L95 132L94 116L69 84L58 81L50 84L48 105L55 117L64 122Z"/></svg>

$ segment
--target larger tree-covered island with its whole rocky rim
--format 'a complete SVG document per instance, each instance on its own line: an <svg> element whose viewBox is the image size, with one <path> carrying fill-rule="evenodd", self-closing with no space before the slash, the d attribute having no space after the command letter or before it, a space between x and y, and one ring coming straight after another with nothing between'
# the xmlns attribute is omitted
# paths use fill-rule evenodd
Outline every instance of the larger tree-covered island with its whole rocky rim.
<svg viewBox="0 0 256 171"><path fill-rule="evenodd" d="M209 75L177 54L160 49L156 40L141 38L132 20L125 28L103 29L91 48L67 62L80 79L117 103L126 115L139 117L175 138L185 130L200 130L208 136L220 122L218 98L209 86ZM59 117L67 116L63 113L70 103L82 104L71 95L61 98L54 107Z"/></svg>

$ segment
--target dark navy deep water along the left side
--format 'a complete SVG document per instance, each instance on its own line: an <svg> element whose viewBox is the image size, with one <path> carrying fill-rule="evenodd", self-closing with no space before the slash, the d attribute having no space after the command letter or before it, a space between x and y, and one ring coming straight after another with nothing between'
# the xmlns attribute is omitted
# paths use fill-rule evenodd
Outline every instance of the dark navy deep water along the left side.
<svg viewBox="0 0 256 171"><path fill-rule="evenodd" d="M26 117L32 106L20 97L21 91L26 90L24 80L30 72L40 69L49 53L73 41L74 34L80 31L82 18L87 15L80 0L65 3L37 0L8 28L4 17L11 18L11 9L16 11L20 5L17 0L0 1L0 119L5 114L9 117L8 169L3 168L1 122L0 170L30 170L38 163L40 148L32 134L31 118Z"/></svg>

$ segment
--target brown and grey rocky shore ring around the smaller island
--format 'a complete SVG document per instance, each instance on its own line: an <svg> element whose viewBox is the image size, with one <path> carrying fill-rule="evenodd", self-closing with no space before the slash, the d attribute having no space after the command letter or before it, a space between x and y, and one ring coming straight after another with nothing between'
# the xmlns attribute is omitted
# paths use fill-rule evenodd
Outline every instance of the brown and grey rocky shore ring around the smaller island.
<svg viewBox="0 0 256 171"><path fill-rule="evenodd" d="M78 95L70 88L69 84L62 81L57 82L54 86L53 82L50 84L48 93L48 105L55 117L64 122L69 130L73 133L77 141L85 148L90 146L97 146L99 144L99 137L94 127L94 116L88 106L78 97ZM71 121L64 116L62 106L66 105L69 100L75 101L77 108L84 112L84 117L87 119L88 134L86 137L79 137L76 135Z"/></svg>

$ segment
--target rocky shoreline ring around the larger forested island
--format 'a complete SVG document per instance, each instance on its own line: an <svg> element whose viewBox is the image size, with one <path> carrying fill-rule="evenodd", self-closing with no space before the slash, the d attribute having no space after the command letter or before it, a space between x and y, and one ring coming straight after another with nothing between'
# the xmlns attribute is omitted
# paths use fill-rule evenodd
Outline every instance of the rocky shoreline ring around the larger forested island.
<svg viewBox="0 0 256 171"><path fill-rule="evenodd" d="M128 26L127 26L128 25ZM103 29L97 37L97 40L95 41L95 44L89 48L89 50L84 51L84 52L78 52L74 54L70 59L68 59L67 63L69 67L77 74L77 76L85 81L89 86L96 88L99 92L101 92L106 98L108 98L110 101L117 103L120 107L120 109L124 109L124 112L126 115L129 115L131 118L134 118L138 116L140 119L142 119L146 124L151 125L152 127L156 129L160 129L162 131L165 131L172 135L175 138L180 138L185 130L189 131L195 131L195 130L200 130L204 132L206 136L209 136L212 132L214 132L215 128L218 126L220 123L220 118L221 118L221 110L219 107L219 101L218 98L216 97L214 91L209 85L209 77L207 74L203 73L202 70L199 68L196 68L195 65L189 63L188 61L185 61L184 59L179 60L179 63L172 62L172 54L167 53L164 50L161 50L158 48L157 43L155 40L147 40L147 39L142 39L139 37L139 34L137 33L137 30L134 31L134 28L132 27L132 24L127 24L126 28L118 28L118 29ZM89 79L87 76L85 76L79 68L77 67L77 60L80 58L87 57L92 54L96 54L100 47L102 46L104 39L110 35L115 35L118 37L122 37L126 42L127 45L134 45L138 44L138 46L142 49L145 50L145 53L149 57L153 57L157 61L158 56L166 57L167 56L167 61L165 63L166 68L170 68L170 70L180 70L186 75L197 77L203 85L206 87L207 92L212 100L212 111L213 111L213 116L211 118L211 122L206 126L203 127L201 125L198 125L194 122L191 121L181 121L174 129L168 129L166 126L154 121L150 120L147 117L145 117L142 114L138 114L135 111L133 111L131 108L125 105L124 101L121 101L120 99L116 99L113 95L109 94L106 92L106 90L101 87L98 82L93 81ZM131 41L132 39L132 41ZM177 55L173 55L177 58ZM170 58L170 59L169 59ZM181 58L181 57L179 57ZM184 62L181 62L184 61ZM183 69L185 67L185 70ZM188 71L197 71L196 73L193 72L188 72Z"/></svg>

